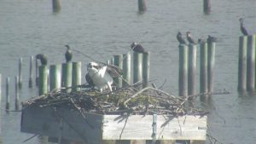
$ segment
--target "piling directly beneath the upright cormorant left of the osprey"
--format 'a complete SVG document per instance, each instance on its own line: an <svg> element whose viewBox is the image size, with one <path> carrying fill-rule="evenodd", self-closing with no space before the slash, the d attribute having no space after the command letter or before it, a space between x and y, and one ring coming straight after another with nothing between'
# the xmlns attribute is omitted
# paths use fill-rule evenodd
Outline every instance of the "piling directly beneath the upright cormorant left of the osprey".
<svg viewBox="0 0 256 144"><path fill-rule="evenodd" d="M70 87L72 86L72 66L72 62L62 64L61 85L62 87L67 88L67 93L71 92Z"/></svg>

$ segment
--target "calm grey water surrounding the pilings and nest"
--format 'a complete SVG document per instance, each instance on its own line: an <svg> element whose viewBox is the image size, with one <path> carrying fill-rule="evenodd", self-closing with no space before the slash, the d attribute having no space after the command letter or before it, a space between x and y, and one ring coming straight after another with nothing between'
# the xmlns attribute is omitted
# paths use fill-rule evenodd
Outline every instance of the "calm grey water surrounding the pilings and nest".
<svg viewBox="0 0 256 144"><path fill-rule="evenodd" d="M14 109L15 75L18 60L24 58L24 85L20 99L27 100L36 89L27 89L30 55L44 53L49 64L64 61L64 45L79 49L97 60L126 53L133 41L141 40L151 52L151 78L177 95L178 53L176 34L190 31L193 37L211 34L220 38L216 49L214 89L229 89L230 95L213 95L208 106L208 133L227 143L256 141L256 96L239 96L237 86L240 17L247 31L256 33L255 0L214 0L212 13L202 13L202 0L148 0L148 11L137 14L137 0L61 0L61 12L52 12L51 1L0 0L0 73L3 85L11 78L11 109ZM74 60L90 60L74 54ZM83 79L83 82L85 80ZM5 87L2 85L2 108ZM1 110L0 139L4 144L21 143L31 135L20 133L20 112ZM41 144L38 138L27 144Z"/></svg>

